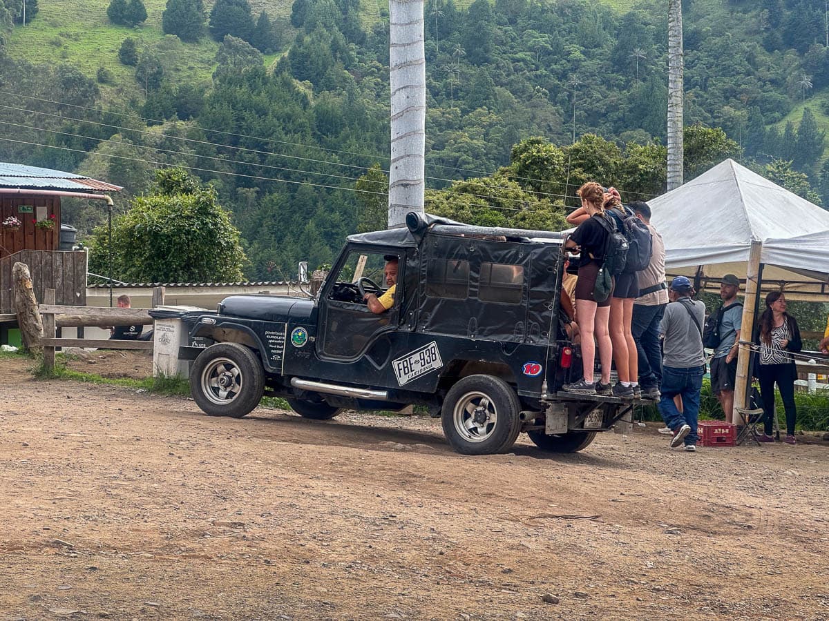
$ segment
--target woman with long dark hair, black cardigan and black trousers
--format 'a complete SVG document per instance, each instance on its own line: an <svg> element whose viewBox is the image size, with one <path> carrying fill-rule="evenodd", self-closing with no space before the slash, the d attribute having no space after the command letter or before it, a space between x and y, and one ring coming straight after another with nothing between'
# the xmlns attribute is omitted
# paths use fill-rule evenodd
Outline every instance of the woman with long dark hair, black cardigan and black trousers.
<svg viewBox="0 0 829 621"><path fill-rule="evenodd" d="M754 326L755 345L759 352L754 360L754 375L760 380L760 394L763 397L764 434L761 442L773 442L774 384L777 383L783 407L786 410L786 444L797 444L794 439L794 424L797 408L794 404L794 380L797 367L791 352L802 349L797 320L786 312L786 297L782 291L772 291L766 296L766 310Z"/></svg>

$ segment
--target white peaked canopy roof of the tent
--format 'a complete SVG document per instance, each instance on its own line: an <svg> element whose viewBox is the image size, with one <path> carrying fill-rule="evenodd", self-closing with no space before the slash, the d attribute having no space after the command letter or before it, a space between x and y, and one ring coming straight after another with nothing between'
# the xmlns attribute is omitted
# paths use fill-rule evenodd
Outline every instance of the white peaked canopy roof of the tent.
<svg viewBox="0 0 829 621"><path fill-rule="evenodd" d="M829 211L725 160L649 200L662 233L666 271L719 291L728 273L745 279L752 242L762 243L764 290L790 299L829 295Z"/></svg>

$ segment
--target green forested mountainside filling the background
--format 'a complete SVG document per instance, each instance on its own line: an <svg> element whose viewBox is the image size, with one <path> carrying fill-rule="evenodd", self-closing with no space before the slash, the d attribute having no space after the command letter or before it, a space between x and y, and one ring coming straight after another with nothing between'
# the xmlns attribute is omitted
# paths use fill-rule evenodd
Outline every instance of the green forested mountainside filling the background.
<svg viewBox="0 0 829 621"><path fill-rule="evenodd" d="M119 209L187 166L232 211L252 279L383 225L382 2L26 2L23 25L22 0L0 0L0 159L124 185ZM829 204L826 3L683 11L686 180L734 156ZM667 2L428 0L425 17L428 209L552 227L588 178L664 190ZM102 215L66 210L82 233Z"/></svg>

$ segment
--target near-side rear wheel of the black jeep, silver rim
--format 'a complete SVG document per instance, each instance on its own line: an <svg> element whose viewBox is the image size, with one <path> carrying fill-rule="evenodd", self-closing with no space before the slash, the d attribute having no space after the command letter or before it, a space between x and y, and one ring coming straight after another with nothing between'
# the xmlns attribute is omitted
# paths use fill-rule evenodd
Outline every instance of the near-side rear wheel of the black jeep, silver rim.
<svg viewBox="0 0 829 621"><path fill-rule="evenodd" d="M441 422L452 448L462 455L502 453L521 431L521 404L515 390L492 375L461 379L444 399Z"/></svg>

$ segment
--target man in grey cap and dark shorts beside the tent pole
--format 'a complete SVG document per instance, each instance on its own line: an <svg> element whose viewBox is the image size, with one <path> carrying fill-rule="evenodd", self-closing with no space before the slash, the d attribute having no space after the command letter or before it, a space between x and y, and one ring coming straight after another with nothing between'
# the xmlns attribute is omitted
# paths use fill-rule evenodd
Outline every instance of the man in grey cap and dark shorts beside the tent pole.
<svg viewBox="0 0 829 621"><path fill-rule="evenodd" d="M720 308L709 318L719 343L711 359L711 392L714 392L725 412L725 421L734 419L734 382L737 378L739 329L743 321L743 303L737 300L739 279L725 274L720 281ZM709 343L710 346L710 343Z"/></svg>

